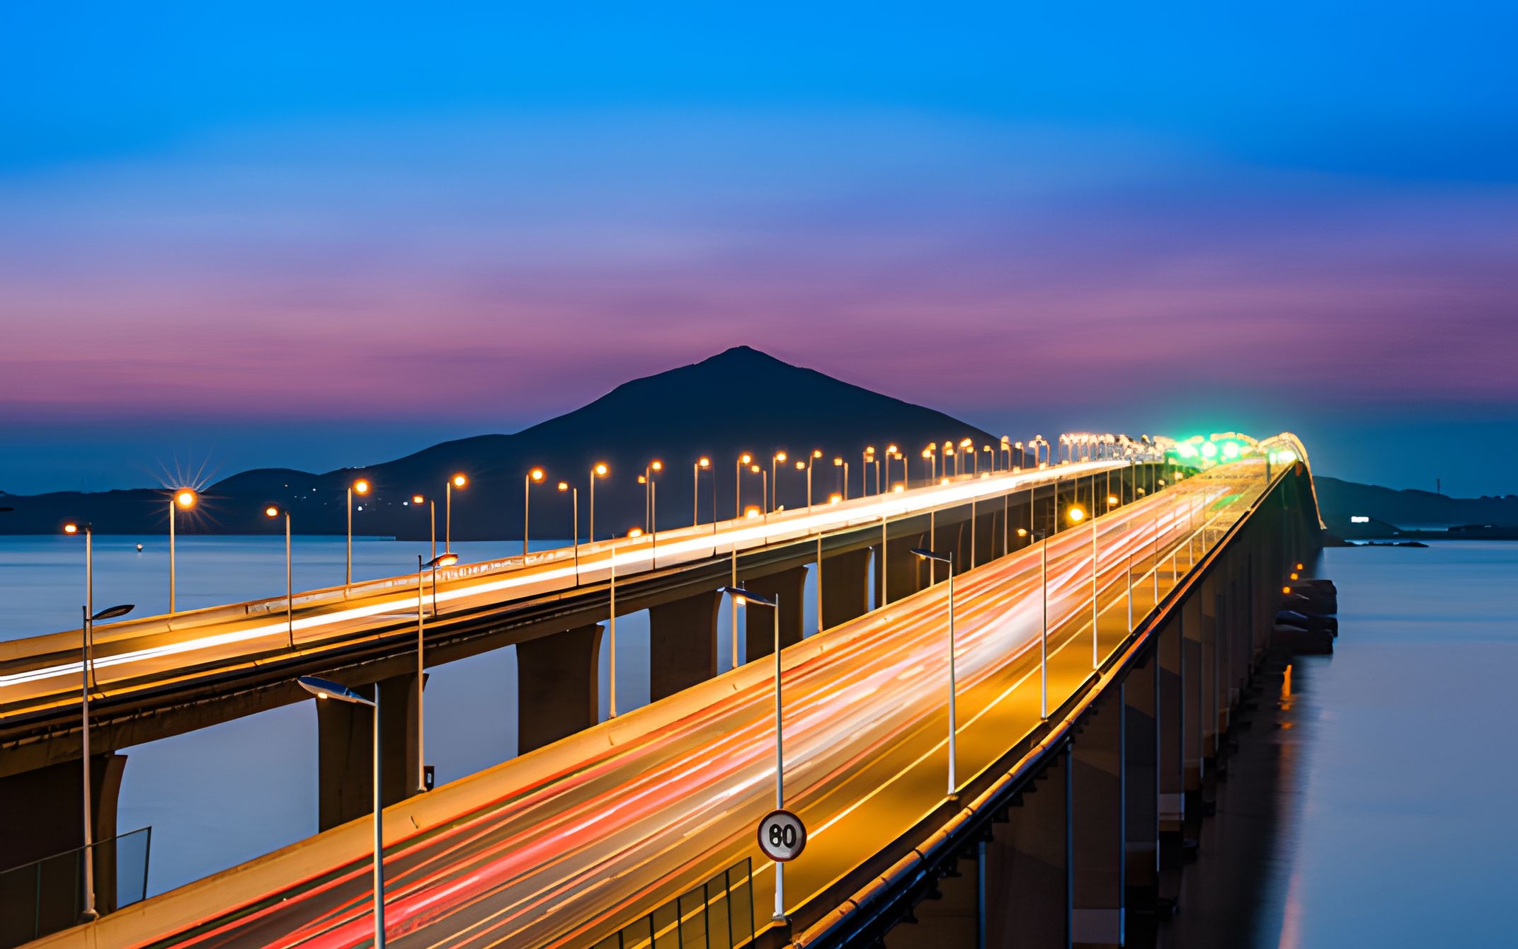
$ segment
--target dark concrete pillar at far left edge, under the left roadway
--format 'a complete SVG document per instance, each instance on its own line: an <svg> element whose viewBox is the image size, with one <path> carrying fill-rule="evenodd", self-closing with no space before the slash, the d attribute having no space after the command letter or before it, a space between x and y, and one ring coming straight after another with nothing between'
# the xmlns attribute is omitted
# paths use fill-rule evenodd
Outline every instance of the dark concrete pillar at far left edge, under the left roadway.
<svg viewBox="0 0 1518 949"><path fill-rule="evenodd" d="M85 843L82 767L65 761L0 777L0 870L44 861L36 873L8 875L0 887L0 946L32 941L33 926L36 935L44 935L79 922L83 870L70 852ZM90 759L90 832L97 844L94 890L100 913L115 910L115 849L105 841L117 835L115 805L124 768L126 755Z"/></svg>

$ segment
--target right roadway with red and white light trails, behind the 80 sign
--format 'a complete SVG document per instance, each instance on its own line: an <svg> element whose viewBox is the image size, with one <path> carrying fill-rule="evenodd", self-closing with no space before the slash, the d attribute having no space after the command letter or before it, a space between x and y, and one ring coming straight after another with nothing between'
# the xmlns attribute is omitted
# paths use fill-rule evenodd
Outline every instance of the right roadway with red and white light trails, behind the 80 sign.
<svg viewBox="0 0 1518 949"><path fill-rule="evenodd" d="M1260 487L1258 465L1230 465L1098 521L1099 651L1126 633L1129 556L1134 615L1142 616L1155 586L1143 571L1158 560L1163 595L1173 583L1172 551L1179 572L1189 568L1189 548L1198 547L1199 556L1199 545L1187 542L1190 528L1211 521L1214 539ZM1050 708L1091 671L1090 585L1090 528L1055 538ZM1037 723L1038 589L1037 548L956 579L964 777ZM786 650L788 797L814 834L788 872L797 897L847 870L859 841L887 843L943 799L946 595L947 583L940 583ZM442 808L471 783L487 787L489 800L425 832L396 831L407 805L390 808L392 938L407 946L581 944L751 853L753 826L773 799L768 665L750 664L442 788L427 796L434 799L428 805ZM641 729L639 720L653 724ZM594 735L612 729L621 729L621 741ZM480 799L477 788L472 800ZM357 832L361 840L363 823L322 837ZM369 926L366 861L323 864L308 853L301 869L305 876L273 887L266 873L254 893L226 881L165 894L143 905L137 929L118 934L150 931L153 903L167 900L176 905L165 919L193 920L203 908L203 923L181 926L156 944L361 944ZM761 919L771 899L768 879L761 865ZM240 910L228 914L229 900Z"/></svg>

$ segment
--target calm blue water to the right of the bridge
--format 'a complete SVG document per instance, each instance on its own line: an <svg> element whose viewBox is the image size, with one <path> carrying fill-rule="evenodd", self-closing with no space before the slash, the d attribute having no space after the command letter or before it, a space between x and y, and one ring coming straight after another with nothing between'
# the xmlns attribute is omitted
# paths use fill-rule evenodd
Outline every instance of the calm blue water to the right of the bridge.
<svg viewBox="0 0 1518 949"><path fill-rule="evenodd" d="M1330 548L1333 656L1240 733L1164 946L1515 946L1518 544Z"/></svg>

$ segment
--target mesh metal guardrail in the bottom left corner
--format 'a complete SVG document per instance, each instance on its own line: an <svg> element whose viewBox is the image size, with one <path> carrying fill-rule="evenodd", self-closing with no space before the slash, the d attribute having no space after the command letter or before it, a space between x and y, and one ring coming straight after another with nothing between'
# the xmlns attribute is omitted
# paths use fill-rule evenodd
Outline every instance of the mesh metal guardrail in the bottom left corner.
<svg viewBox="0 0 1518 949"><path fill-rule="evenodd" d="M147 897L153 829L100 840L94 853L96 911L102 916ZM83 913L87 847L0 870L0 949L20 946L79 923Z"/></svg>

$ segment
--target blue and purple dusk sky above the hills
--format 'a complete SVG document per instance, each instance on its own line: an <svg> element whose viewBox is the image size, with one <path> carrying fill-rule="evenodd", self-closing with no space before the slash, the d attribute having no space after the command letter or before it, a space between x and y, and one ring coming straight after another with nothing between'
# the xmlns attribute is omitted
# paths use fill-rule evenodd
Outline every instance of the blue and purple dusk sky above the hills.
<svg viewBox="0 0 1518 949"><path fill-rule="evenodd" d="M1518 490L1512 5L512 6L0 8L0 489L367 465L747 343Z"/></svg>

